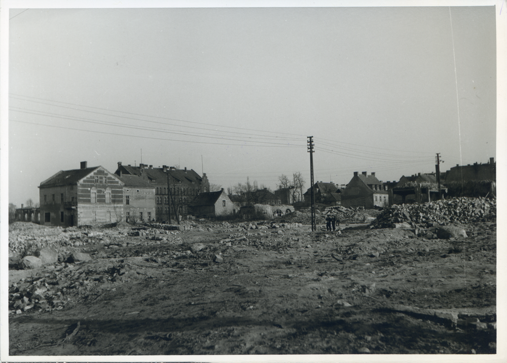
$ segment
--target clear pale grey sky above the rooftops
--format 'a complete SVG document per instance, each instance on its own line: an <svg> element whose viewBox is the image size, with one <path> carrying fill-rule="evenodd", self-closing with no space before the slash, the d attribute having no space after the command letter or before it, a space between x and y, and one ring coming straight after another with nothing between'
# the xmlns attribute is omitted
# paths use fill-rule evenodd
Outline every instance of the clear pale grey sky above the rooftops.
<svg viewBox="0 0 507 363"><path fill-rule="evenodd" d="M493 6L9 9L9 202L59 170L222 188L496 160Z"/></svg>

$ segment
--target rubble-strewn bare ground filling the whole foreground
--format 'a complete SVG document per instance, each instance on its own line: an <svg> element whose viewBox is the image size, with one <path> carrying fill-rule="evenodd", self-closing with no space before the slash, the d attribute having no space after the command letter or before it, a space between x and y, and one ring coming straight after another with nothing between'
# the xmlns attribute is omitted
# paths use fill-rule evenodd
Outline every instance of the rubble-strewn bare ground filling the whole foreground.
<svg viewBox="0 0 507 363"><path fill-rule="evenodd" d="M10 355L491 354L496 201L9 230ZM374 215L370 215L372 213ZM376 217L376 219L375 219Z"/></svg>

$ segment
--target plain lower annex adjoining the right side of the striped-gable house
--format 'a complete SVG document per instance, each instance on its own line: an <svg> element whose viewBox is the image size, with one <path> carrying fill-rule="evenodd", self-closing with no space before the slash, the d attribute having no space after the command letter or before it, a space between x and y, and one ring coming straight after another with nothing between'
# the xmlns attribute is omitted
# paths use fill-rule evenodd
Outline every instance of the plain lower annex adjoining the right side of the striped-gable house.
<svg viewBox="0 0 507 363"><path fill-rule="evenodd" d="M118 175L123 182L123 212L126 222L157 220L155 187L137 175Z"/></svg>

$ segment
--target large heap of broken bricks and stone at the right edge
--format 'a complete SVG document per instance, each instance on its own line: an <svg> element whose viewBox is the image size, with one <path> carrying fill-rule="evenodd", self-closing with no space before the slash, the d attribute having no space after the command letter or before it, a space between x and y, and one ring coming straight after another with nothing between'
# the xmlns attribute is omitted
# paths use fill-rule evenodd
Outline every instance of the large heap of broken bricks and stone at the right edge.
<svg viewBox="0 0 507 363"><path fill-rule="evenodd" d="M370 227L392 228L399 223L410 227L433 227L491 221L496 221L496 199L462 197L424 204L392 205L383 210Z"/></svg>

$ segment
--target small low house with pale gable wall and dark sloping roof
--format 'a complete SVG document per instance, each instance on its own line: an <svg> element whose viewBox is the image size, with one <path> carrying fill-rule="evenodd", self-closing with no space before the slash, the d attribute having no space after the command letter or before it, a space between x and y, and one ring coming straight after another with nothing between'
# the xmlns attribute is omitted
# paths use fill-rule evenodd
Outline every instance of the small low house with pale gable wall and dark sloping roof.
<svg viewBox="0 0 507 363"><path fill-rule="evenodd" d="M190 202L189 207L192 215L197 218L235 214L237 208L224 188L220 192L200 193Z"/></svg>

